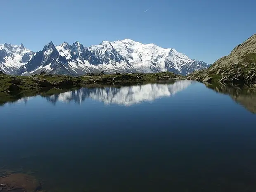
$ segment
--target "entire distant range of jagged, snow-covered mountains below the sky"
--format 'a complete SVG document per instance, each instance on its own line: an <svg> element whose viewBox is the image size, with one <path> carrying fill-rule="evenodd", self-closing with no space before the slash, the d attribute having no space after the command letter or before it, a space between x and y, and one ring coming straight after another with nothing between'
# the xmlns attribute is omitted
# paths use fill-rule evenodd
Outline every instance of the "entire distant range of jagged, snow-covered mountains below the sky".
<svg viewBox="0 0 256 192"><path fill-rule="evenodd" d="M45 71L51 74L83 75L105 73L154 73L171 71L188 75L206 69L209 64L190 59L175 49L164 49L154 44L142 44L130 39L103 41L85 47L76 41L55 46L52 42L39 52L21 45L0 45L0 70L7 74L29 76Z"/></svg>

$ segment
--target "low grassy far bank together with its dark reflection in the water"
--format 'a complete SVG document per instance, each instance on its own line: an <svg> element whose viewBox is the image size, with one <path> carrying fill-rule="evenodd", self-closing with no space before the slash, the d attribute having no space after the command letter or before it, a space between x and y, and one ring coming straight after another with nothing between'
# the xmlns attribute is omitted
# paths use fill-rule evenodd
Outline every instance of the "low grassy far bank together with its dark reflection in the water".
<svg viewBox="0 0 256 192"><path fill-rule="evenodd" d="M103 85L134 85L149 81L173 81L185 79L172 72L162 73L116 73L96 76L72 77L64 75L41 74L33 76L11 76L0 74L0 105L14 102L21 97L34 95L47 96L71 90L71 88L98 87Z"/></svg>

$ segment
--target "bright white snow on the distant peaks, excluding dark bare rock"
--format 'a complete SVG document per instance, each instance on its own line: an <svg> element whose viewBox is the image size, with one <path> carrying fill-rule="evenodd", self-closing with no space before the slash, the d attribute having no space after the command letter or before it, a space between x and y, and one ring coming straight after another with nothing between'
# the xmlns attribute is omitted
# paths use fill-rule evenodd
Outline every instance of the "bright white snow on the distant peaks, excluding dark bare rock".
<svg viewBox="0 0 256 192"><path fill-rule="evenodd" d="M26 64L19 62L26 52L31 54L31 58L34 55L32 51L22 48L19 45L0 45L0 49L5 49L10 55L5 58L5 63L0 63L0 69L4 72L8 71L7 73L13 73L13 71L19 69L21 65ZM106 73L152 73L170 70L189 74L192 71L205 67L204 63L195 62L193 59L190 59L175 49L164 49L152 43L142 44L130 39L118 40L115 42L103 41L100 45L92 45L88 48L83 47L79 42L75 42L72 45L64 42L61 45L56 46L56 49L59 52L59 55L68 60L68 63L64 64L64 67L67 70L75 71L75 73L77 73L77 71L97 72L102 70ZM86 49L92 52L92 57L97 57L103 61L109 59L110 61L108 63L92 65L85 60L85 58L81 57L83 56L81 55L83 51L88 51ZM52 52L53 47L44 52L45 59L40 65L43 66L45 65L45 62L49 62L47 57ZM116 59L121 60L121 63L111 60L109 55L113 56L113 54ZM73 55L76 55L76 57L73 57ZM35 69L30 73L36 72L38 69ZM53 69L54 67L51 68L49 65L45 68L47 71L51 71Z"/></svg>

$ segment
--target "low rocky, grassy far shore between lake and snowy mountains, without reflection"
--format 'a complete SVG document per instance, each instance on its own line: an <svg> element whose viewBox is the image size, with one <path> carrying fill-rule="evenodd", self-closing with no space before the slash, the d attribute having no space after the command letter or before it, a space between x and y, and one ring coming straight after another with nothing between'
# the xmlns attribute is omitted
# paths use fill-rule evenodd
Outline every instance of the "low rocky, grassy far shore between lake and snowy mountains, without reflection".
<svg viewBox="0 0 256 192"><path fill-rule="evenodd" d="M33 76L10 76L0 74L0 92L22 92L40 88L72 88L90 84L122 84L145 81L165 81L185 79L184 76L175 75L172 72L163 73L116 73L105 75L104 73L81 77L52 75L40 73Z"/></svg>

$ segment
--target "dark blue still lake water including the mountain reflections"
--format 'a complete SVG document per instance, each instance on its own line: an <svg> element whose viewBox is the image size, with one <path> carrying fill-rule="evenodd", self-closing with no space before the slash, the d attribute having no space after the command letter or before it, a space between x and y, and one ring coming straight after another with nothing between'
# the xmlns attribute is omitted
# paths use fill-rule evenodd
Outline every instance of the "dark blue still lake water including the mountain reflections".
<svg viewBox="0 0 256 192"><path fill-rule="evenodd" d="M25 97L0 107L0 170L50 192L255 192L255 112L192 81Z"/></svg>

